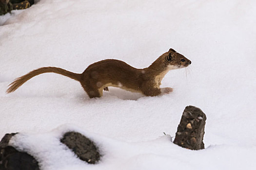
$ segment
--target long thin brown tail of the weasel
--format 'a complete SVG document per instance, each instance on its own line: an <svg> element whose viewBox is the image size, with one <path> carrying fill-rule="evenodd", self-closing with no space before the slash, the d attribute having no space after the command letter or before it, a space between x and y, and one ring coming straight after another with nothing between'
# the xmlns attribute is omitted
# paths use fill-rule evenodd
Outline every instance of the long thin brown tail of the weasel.
<svg viewBox="0 0 256 170"><path fill-rule="evenodd" d="M29 73L15 79L15 81L9 85L9 88L6 90L6 93L14 92L17 88L19 88L21 85L23 85L29 79L31 79L39 74L47 73L47 72L61 74L63 76L69 77L69 78L77 80L79 82L81 81L81 74L73 73L73 72L67 71L62 68L44 67L44 68L38 68L33 71L30 71Z"/></svg>

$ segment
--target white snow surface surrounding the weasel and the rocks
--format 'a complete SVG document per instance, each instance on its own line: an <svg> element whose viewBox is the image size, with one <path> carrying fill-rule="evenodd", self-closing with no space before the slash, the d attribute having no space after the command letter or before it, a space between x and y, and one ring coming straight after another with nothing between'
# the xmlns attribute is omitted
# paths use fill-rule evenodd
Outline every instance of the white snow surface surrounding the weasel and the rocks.
<svg viewBox="0 0 256 170"><path fill-rule="evenodd" d="M13 144L33 144L44 170L256 169L255 0L40 0L0 24L0 137L22 132ZM175 89L168 95L113 87L89 99L78 82L54 73L5 94L35 68L81 73L107 58L145 68L170 48L192 65L165 76L161 86ZM187 105L207 116L205 150L170 142ZM60 132L75 127L52 129L67 123L102 146L99 164L62 151ZM52 153L63 157L51 163L43 151L57 145Z"/></svg>

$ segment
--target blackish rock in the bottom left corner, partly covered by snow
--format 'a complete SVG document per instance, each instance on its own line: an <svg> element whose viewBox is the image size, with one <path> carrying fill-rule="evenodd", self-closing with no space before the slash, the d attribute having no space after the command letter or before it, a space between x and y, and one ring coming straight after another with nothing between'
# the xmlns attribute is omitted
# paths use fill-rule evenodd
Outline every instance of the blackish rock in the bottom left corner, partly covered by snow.
<svg viewBox="0 0 256 170"><path fill-rule="evenodd" d="M6 134L0 141L0 170L39 170L34 157L8 146L9 140L16 134Z"/></svg>

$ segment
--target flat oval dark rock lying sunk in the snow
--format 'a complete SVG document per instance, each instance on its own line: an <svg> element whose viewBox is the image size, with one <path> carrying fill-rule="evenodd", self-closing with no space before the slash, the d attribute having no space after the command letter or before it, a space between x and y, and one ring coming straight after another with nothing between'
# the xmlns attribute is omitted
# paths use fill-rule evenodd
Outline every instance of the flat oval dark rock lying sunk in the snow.
<svg viewBox="0 0 256 170"><path fill-rule="evenodd" d="M100 158L98 148L94 142L78 132L65 133L60 142L77 154L81 160L89 164L95 164Z"/></svg>

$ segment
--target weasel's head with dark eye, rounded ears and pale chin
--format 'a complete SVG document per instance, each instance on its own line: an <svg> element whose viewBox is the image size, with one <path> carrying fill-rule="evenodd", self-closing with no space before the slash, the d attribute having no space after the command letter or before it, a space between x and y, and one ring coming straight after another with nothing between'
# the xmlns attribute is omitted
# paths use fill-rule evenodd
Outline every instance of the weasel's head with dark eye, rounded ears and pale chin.
<svg viewBox="0 0 256 170"><path fill-rule="evenodd" d="M173 49L165 52L163 57L165 58L164 62L166 66L170 69L185 68L191 65L191 61L189 59Z"/></svg>

